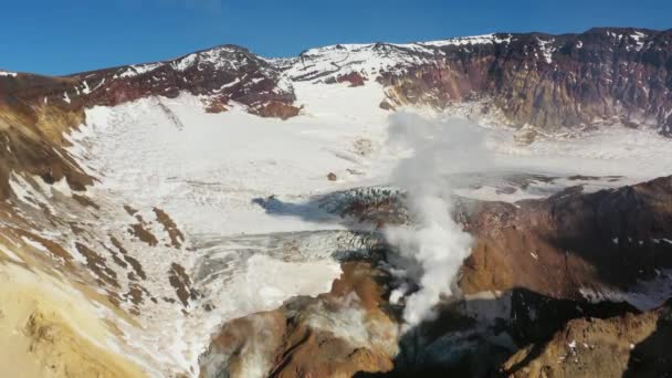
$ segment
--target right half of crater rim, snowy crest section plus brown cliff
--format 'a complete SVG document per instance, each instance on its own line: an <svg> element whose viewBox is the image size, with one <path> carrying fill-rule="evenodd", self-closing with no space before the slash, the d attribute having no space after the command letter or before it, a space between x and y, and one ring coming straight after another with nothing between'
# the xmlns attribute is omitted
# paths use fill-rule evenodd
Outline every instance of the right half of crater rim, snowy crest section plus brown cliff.
<svg viewBox="0 0 672 378"><path fill-rule="evenodd" d="M489 34L445 41L308 50L296 81L377 81L386 108L474 103L476 118L542 129L622 123L670 132L672 31Z"/></svg>

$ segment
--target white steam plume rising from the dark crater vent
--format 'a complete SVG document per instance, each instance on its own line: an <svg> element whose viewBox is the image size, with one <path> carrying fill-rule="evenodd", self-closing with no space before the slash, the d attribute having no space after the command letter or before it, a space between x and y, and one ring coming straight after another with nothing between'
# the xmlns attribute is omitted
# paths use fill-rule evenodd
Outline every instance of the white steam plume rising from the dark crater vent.
<svg viewBox="0 0 672 378"><path fill-rule="evenodd" d="M460 174L487 166L482 134L462 119L429 120L398 113L390 117L388 146L412 156L396 168L395 183L407 192L408 227L388 227L387 241L398 250L408 279L419 290L406 298L405 322L413 326L432 318L442 296L472 246L472 238L451 217L451 182ZM396 300L406 288L392 293Z"/></svg>

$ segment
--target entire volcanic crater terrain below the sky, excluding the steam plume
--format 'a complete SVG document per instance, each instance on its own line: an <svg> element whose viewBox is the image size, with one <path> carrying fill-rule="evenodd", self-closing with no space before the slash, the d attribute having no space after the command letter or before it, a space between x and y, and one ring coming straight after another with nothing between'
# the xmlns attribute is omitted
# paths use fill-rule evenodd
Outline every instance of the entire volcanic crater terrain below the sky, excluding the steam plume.
<svg viewBox="0 0 672 378"><path fill-rule="evenodd" d="M56 377L665 371L670 33L1 74L0 348ZM474 248L411 329L380 233L413 222L398 109L477 120L495 161L453 180Z"/></svg>

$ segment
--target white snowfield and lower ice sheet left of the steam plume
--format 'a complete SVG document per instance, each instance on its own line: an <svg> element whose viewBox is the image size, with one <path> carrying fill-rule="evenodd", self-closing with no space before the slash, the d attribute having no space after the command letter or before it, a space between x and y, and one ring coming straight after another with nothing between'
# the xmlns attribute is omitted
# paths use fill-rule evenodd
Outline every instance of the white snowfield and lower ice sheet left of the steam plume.
<svg viewBox="0 0 672 378"><path fill-rule="evenodd" d="M356 141L385 137L386 113L377 108L379 86L324 85L317 90L311 84L296 85L305 108L302 116L286 122L250 115L235 104L227 113L208 114L200 97L182 94L174 99L145 98L87 109L87 125L67 136L73 143L72 155L101 178L90 196L106 193L105 198L135 208L156 206L166 210L196 245L217 245L200 246L191 259L182 256L180 264L188 269L228 262L222 265L227 266L225 276L198 281L199 291L218 311L193 309L192 316L179 317L181 323L176 323L166 309L147 309L143 316L147 317L149 344L138 342L138 348L155 353L147 345L161 345L160 354L185 356L181 363L175 357L176 364L188 368L222 322L275 308L295 295L326 292L338 277L340 266L332 254L346 246L330 240L338 238L333 230L343 229L342 224L273 216L253 202L272 195L288 203L301 202L353 185L359 178L347 169L364 169L368 162L367 157L356 154ZM344 117L351 109L354 114ZM343 179L328 181L329 171ZM283 249L270 246L284 240L282 232L315 230L328 233L306 244L312 248L303 249L305 253L290 250L292 260ZM243 242L243 234L265 234L270 241L253 239L250 244ZM250 255L246 251L255 252ZM147 253L143 259L146 269L154 265L160 272L165 265ZM167 256L162 260L170 261ZM146 285L160 293L159 285L165 283ZM190 335L178 329L160 339L149 337L166 327Z"/></svg>

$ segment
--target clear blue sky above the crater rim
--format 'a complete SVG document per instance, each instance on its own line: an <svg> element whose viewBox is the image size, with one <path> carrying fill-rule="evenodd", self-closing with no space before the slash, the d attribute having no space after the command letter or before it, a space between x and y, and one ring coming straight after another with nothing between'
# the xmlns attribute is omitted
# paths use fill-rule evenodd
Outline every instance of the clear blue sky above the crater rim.
<svg viewBox="0 0 672 378"><path fill-rule="evenodd" d="M671 0L3 0L0 67L66 74L234 43L266 56L312 46L497 31L672 28Z"/></svg>

